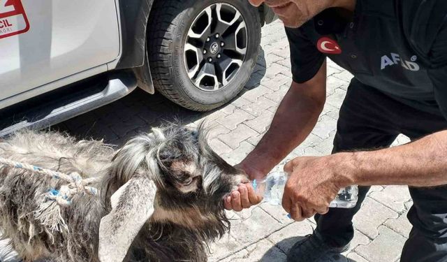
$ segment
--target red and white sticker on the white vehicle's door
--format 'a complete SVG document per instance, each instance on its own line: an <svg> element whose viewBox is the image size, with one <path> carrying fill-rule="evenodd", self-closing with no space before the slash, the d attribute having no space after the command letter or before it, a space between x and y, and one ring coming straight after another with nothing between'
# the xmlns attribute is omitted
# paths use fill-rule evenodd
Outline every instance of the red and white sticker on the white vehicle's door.
<svg viewBox="0 0 447 262"><path fill-rule="evenodd" d="M21 0L0 0L0 39L29 30L27 14Z"/></svg>

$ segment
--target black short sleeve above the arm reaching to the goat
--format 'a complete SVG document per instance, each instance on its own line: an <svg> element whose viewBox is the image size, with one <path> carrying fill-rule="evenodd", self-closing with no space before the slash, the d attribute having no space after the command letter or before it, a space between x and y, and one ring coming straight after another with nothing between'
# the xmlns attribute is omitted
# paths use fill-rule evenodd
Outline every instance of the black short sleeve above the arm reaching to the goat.
<svg viewBox="0 0 447 262"><path fill-rule="evenodd" d="M325 61L325 55L318 51L316 45L305 34L305 31L311 27L311 21L298 29L286 27L286 35L291 48L293 81L298 83L311 80Z"/></svg>

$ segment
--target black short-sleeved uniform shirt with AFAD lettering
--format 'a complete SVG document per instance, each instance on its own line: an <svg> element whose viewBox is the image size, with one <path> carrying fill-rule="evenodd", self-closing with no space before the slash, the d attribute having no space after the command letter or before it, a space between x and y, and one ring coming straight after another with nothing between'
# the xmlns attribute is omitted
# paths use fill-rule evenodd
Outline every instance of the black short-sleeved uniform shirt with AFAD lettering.
<svg viewBox="0 0 447 262"><path fill-rule="evenodd" d="M313 78L330 57L363 84L447 118L447 0L357 0L349 21L336 11L286 28L295 82ZM342 53L323 53L336 46L323 37Z"/></svg>

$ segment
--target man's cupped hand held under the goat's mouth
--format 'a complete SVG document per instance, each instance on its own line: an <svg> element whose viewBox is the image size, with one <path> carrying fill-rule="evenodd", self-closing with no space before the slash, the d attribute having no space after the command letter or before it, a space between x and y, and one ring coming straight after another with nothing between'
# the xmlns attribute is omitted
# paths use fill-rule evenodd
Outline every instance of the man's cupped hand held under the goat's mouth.
<svg viewBox="0 0 447 262"><path fill-rule="evenodd" d="M254 169L252 166L246 166L244 163L237 165L249 175L250 180L262 179L265 174ZM250 208L252 205L258 205L263 200L262 196L256 195L254 188L251 184L240 184L239 188L231 192L230 196L227 196L223 201L223 206L226 210L235 210L237 212L242 211L244 208Z"/></svg>

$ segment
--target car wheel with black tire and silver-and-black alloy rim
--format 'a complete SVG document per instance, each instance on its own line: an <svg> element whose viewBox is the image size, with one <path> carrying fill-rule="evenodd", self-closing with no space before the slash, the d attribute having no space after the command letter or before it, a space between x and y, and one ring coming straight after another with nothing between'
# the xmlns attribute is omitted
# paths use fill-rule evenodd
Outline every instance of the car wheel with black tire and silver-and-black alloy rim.
<svg viewBox="0 0 447 262"><path fill-rule="evenodd" d="M260 42L260 15L247 0L156 0L147 30L154 87L184 108L218 108L249 80Z"/></svg>

